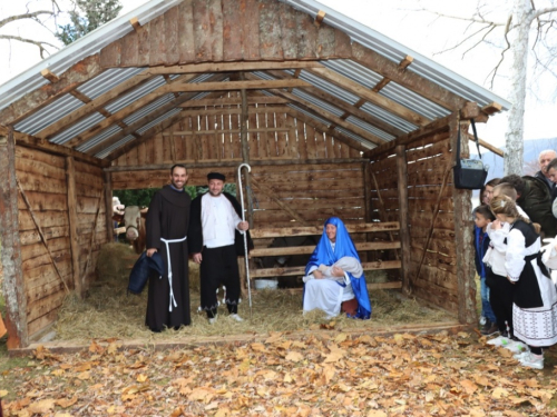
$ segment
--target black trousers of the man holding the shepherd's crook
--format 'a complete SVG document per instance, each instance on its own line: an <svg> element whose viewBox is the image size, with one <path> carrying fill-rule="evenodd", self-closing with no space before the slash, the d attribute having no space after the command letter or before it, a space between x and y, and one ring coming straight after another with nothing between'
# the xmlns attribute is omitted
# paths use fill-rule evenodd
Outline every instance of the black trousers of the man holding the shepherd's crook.
<svg viewBox="0 0 557 417"><path fill-rule="evenodd" d="M218 300L216 291L219 285L226 287L225 302L229 314L238 311L240 271L238 257L234 245L218 248L203 247L203 260L199 268L202 308L207 317L215 317Z"/></svg>

